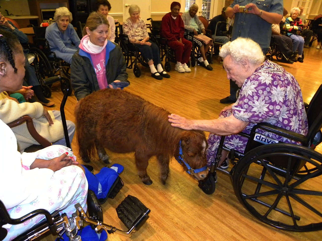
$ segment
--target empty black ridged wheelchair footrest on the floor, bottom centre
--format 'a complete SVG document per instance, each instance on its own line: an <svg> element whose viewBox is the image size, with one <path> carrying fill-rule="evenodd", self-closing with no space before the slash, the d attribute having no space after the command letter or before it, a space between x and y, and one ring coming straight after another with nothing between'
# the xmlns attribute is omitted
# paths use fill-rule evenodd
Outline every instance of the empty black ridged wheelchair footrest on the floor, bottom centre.
<svg viewBox="0 0 322 241"><path fill-rule="evenodd" d="M129 229L138 230L149 218L150 209L136 197L128 195L116 208L118 218Z"/></svg>

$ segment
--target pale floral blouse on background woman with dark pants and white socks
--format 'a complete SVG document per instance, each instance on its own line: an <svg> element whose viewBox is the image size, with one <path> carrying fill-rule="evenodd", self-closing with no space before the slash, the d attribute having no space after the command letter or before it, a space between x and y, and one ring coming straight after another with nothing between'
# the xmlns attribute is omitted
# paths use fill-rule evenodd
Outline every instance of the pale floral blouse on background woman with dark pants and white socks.
<svg viewBox="0 0 322 241"><path fill-rule="evenodd" d="M123 33L128 35L129 39L142 40L149 37L147 33L147 25L143 19L139 18L137 27L134 27L130 18L123 22Z"/></svg>

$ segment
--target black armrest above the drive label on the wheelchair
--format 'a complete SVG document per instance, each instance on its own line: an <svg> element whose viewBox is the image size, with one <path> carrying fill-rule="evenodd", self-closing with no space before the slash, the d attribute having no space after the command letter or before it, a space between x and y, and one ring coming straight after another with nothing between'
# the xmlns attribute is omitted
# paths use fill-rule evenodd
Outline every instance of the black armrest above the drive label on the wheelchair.
<svg viewBox="0 0 322 241"><path fill-rule="evenodd" d="M257 129L262 129L271 133L274 133L276 135L279 135L281 137L285 137L291 140L295 140L295 141L299 141L301 142L303 145L306 145L308 140L306 138L306 136L302 135L302 134L298 134L294 131L291 130L287 130L284 128L280 128L278 126L274 126L272 124L263 122L263 123L258 123L257 125L255 125L252 129L251 129L251 134L256 132Z"/></svg>

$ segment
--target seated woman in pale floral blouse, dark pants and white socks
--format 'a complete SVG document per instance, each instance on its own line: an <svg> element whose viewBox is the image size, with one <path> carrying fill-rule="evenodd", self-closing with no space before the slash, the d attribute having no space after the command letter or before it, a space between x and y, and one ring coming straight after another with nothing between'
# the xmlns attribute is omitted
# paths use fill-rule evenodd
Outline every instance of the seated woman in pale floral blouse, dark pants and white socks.
<svg viewBox="0 0 322 241"><path fill-rule="evenodd" d="M163 77L170 78L170 75L163 70L161 65L159 47L155 42L149 40L147 26L144 20L140 18L139 6L131 5L128 13L130 17L123 22L123 33L128 35L130 43L133 43L141 52L144 60L150 67L152 77L158 80Z"/></svg>

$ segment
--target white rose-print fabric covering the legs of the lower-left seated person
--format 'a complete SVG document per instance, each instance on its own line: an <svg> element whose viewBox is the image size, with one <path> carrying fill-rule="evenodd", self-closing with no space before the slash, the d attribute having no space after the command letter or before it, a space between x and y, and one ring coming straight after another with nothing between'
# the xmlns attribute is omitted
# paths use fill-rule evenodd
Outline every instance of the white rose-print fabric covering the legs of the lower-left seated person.
<svg viewBox="0 0 322 241"><path fill-rule="evenodd" d="M54 145L37 151L37 157L40 159L52 159L61 156L68 151L68 147ZM70 149L69 149L70 150ZM72 156L76 160L76 156ZM24 167L25 169L27 167ZM41 182L41 180L39 180ZM86 198L88 183L83 170L78 166L66 166L52 175L50 185L48 185L38 197L27 204L17 205L8 210L11 218L20 218L25 214L36 210L46 209L50 213L59 210L60 213L66 213L68 217L75 212L74 205L79 202L84 210L87 210ZM4 241L13 240L24 231L33 227L44 219L44 215L38 215L32 219L18 225L4 225L8 234Z"/></svg>

